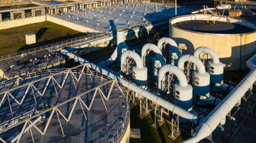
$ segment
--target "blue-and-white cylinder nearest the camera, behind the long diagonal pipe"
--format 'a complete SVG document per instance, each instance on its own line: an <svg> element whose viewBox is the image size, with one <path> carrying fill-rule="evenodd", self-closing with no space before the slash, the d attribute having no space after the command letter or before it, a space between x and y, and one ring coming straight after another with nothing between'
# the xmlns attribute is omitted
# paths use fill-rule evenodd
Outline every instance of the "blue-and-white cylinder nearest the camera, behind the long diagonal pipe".
<svg viewBox="0 0 256 143"><path fill-rule="evenodd" d="M175 84L175 105L191 112L193 109L192 90L193 88L190 84L187 87L181 87L179 84ZM188 120L180 118L180 122L188 122Z"/></svg>

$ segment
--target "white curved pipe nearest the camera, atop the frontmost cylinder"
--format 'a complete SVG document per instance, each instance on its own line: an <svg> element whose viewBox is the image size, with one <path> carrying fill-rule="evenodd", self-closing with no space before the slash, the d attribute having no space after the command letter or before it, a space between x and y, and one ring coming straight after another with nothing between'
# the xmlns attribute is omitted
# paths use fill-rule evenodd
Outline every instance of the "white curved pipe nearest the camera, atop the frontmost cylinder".
<svg viewBox="0 0 256 143"><path fill-rule="evenodd" d="M188 81L186 79L185 74L183 74L183 71L181 71L177 66L173 66L172 64L165 64L160 68L158 71L158 82L157 86L158 89L162 89L162 79L165 76L166 72L171 72L175 74L175 76L178 78L178 81L180 82L180 87L187 87Z"/></svg>

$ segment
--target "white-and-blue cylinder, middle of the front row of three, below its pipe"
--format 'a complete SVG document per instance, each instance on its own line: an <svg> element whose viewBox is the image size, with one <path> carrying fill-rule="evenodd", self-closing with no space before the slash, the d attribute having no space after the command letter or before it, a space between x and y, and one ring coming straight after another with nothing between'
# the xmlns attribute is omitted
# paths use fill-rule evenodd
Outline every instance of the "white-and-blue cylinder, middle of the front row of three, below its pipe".
<svg viewBox="0 0 256 143"><path fill-rule="evenodd" d="M210 96L210 74L193 72L193 102L206 105L204 99Z"/></svg>

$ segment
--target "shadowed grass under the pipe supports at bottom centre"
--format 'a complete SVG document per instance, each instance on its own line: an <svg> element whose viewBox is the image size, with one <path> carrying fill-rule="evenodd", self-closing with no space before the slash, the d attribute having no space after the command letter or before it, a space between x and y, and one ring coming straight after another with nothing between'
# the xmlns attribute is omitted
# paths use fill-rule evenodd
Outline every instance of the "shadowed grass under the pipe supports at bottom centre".
<svg viewBox="0 0 256 143"><path fill-rule="evenodd" d="M188 139L191 137L189 134L185 132L181 132L180 136L178 136L174 141L168 137L170 134L171 125L165 122L162 126L155 129L151 126L154 123L154 114L148 114L144 119L140 119L137 115L140 114L140 107L137 105L131 109L131 128L140 128L141 139L130 138L130 143L136 142L170 142L170 143L178 143L182 142L184 139Z"/></svg>

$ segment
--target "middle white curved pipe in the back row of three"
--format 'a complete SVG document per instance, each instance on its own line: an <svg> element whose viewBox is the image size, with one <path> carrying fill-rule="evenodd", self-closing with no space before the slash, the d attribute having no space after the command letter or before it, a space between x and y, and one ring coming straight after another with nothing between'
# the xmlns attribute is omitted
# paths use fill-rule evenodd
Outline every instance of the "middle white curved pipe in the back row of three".
<svg viewBox="0 0 256 143"><path fill-rule="evenodd" d="M143 64L145 64L145 54L148 49L151 49L152 51L154 51L155 56L158 59L162 58L162 56L163 56L162 51L157 46L155 46L155 44L145 44L144 46L142 46L142 51L141 51L141 57L142 57Z"/></svg>

